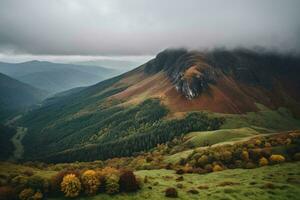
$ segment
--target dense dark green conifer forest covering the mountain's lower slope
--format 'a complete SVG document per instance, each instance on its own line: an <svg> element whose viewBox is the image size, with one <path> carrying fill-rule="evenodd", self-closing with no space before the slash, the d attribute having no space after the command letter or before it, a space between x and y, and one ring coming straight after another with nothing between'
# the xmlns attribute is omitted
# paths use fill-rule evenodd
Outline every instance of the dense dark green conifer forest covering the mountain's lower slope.
<svg viewBox="0 0 300 200"><path fill-rule="evenodd" d="M190 131L218 129L223 122L222 118L210 118L204 113L166 120L167 113L158 99L149 99L128 108L106 108L68 124L57 124L55 129L50 129L59 131L56 137L53 137L53 132L40 138L44 146L27 143L26 159L71 162L130 156ZM50 145L46 145L48 141Z"/></svg>

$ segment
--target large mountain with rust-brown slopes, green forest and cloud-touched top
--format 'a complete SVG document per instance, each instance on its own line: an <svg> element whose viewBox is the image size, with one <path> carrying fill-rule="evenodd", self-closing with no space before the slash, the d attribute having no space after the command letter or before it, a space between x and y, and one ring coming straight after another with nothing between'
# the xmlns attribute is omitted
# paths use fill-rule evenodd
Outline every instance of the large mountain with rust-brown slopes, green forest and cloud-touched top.
<svg viewBox="0 0 300 200"><path fill-rule="evenodd" d="M299 128L300 59L168 49L140 67L28 113L24 159L131 156L192 131ZM34 145L32 145L34 144Z"/></svg>

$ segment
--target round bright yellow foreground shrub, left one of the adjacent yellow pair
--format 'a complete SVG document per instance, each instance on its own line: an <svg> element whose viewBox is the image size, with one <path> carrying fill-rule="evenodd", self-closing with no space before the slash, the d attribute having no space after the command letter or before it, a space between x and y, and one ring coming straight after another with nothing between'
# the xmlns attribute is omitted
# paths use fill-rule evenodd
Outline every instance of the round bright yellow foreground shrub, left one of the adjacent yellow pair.
<svg viewBox="0 0 300 200"><path fill-rule="evenodd" d="M61 190L66 197L76 197L81 190L81 183L75 174L68 174L64 176L61 182Z"/></svg>

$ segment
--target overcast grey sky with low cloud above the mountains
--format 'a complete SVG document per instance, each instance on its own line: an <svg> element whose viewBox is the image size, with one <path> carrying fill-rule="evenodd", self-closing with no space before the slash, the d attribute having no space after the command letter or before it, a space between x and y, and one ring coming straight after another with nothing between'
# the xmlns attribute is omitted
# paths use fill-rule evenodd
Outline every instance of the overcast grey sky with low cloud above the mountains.
<svg viewBox="0 0 300 200"><path fill-rule="evenodd" d="M170 47L300 52L299 10L299 0L0 0L0 59Z"/></svg>

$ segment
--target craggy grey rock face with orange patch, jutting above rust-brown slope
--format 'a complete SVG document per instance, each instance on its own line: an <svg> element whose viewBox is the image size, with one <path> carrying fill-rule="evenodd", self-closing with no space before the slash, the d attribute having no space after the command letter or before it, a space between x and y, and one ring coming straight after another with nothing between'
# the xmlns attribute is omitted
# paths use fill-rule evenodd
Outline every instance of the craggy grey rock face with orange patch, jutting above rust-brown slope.
<svg viewBox="0 0 300 200"><path fill-rule="evenodd" d="M199 52L165 50L146 63L145 72L164 71L176 90L192 99L208 90L209 84L214 84L217 78L214 68L203 62L203 59Z"/></svg>

